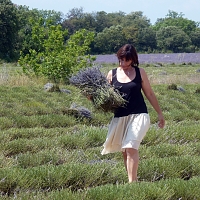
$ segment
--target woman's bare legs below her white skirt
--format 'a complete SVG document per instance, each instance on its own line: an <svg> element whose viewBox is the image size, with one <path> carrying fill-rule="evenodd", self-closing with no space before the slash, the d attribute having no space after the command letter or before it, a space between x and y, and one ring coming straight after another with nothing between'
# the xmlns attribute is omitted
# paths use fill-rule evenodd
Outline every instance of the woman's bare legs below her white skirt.
<svg viewBox="0 0 200 200"><path fill-rule="evenodd" d="M128 173L129 183L137 181L137 170L139 164L139 153L138 150L127 148L123 152L124 165Z"/></svg>

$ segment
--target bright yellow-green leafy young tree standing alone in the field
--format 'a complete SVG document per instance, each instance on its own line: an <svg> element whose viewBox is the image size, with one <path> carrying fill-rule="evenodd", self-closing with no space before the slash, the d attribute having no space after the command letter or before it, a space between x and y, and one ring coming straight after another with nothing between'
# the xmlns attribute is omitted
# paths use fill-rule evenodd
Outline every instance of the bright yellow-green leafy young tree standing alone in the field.
<svg viewBox="0 0 200 200"><path fill-rule="evenodd" d="M90 65L92 58L86 56L94 34L79 30L71 35L67 43L61 25L41 26L39 22L33 25L32 39L40 44L41 49L30 49L30 54L21 55L19 64L24 73L45 76L56 84L68 81L69 76L80 68Z"/></svg>

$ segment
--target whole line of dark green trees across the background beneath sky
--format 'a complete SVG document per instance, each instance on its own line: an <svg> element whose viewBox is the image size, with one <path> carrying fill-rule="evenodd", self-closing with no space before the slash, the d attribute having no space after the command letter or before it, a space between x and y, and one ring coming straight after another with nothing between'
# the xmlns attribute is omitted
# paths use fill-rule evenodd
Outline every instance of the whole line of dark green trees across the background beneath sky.
<svg viewBox="0 0 200 200"><path fill-rule="evenodd" d="M64 15L54 10L29 9L15 5L11 0L0 0L0 58L17 61L20 55L26 56L30 51L45 51L47 47L43 42L50 27L54 27L54 32L62 32L65 45L77 31L90 32L94 37L88 42L87 53L91 55L116 53L125 43L134 44L140 53L198 52L199 25L199 22L185 18L183 13L171 10L164 18L151 24L142 11L86 13L83 8L73 8ZM38 26L40 31L37 35L35 30ZM49 42L53 45L56 39ZM79 42L83 43L83 40ZM49 46L48 50L51 48Z"/></svg>

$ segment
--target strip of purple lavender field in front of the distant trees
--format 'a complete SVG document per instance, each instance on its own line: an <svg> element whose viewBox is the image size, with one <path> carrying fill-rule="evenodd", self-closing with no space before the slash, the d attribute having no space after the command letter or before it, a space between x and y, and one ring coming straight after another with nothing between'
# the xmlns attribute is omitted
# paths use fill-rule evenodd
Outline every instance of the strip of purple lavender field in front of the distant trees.
<svg viewBox="0 0 200 200"><path fill-rule="evenodd" d="M138 54L139 63L200 63L200 53ZM97 55L96 63L118 63L115 54Z"/></svg>

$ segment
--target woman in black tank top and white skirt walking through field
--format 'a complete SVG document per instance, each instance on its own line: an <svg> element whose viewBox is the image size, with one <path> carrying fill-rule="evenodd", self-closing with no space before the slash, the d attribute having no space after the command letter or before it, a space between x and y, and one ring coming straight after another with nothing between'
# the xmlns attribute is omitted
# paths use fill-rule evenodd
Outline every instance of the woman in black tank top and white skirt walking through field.
<svg viewBox="0 0 200 200"><path fill-rule="evenodd" d="M150 125L142 91L158 113L160 128L164 127L165 120L146 72L138 67L138 55L134 46L122 46L117 52L117 58L119 66L110 70L107 78L110 84L120 91L127 103L114 113L102 154L122 151L128 180L131 183L137 181L138 148Z"/></svg>

